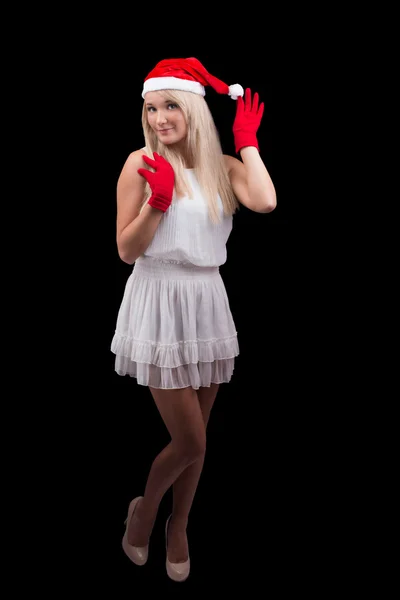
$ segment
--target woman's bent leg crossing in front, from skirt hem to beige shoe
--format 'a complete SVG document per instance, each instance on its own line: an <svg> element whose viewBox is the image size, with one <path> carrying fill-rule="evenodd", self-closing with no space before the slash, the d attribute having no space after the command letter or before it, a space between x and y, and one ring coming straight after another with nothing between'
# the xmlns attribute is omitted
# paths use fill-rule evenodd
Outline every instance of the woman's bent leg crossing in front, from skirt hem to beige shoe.
<svg viewBox="0 0 400 600"><path fill-rule="evenodd" d="M133 546L148 543L165 492L189 465L204 455L206 444L203 414L193 388L150 388L150 391L171 442L154 459L143 499L129 524L128 541Z"/></svg>

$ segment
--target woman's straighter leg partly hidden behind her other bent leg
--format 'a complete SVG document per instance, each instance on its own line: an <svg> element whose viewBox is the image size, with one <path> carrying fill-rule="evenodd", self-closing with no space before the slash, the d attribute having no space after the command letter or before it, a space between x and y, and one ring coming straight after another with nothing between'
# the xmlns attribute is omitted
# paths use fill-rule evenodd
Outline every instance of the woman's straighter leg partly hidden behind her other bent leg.
<svg viewBox="0 0 400 600"><path fill-rule="evenodd" d="M217 396L219 384L197 390L204 427L207 427L210 412ZM188 557L186 527L189 512L203 470L205 454L188 466L173 484L173 510L168 527L168 557L172 562L184 562Z"/></svg>

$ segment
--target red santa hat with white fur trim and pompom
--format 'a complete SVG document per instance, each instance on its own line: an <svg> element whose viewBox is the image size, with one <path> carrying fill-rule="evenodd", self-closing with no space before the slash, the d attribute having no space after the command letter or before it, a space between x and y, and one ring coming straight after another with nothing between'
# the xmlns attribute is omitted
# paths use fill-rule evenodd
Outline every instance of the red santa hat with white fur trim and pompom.
<svg viewBox="0 0 400 600"><path fill-rule="evenodd" d="M158 90L183 90L205 96L207 85L218 94L228 94L233 100L244 94L240 84L227 85L210 75L197 58L167 58L157 63L145 78L142 98L147 92Z"/></svg>

